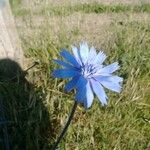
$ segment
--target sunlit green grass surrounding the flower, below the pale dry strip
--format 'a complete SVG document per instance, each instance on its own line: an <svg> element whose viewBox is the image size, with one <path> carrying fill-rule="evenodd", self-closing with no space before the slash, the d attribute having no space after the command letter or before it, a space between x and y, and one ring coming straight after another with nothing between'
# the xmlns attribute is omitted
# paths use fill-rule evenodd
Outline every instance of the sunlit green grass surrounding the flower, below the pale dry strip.
<svg viewBox="0 0 150 150"><path fill-rule="evenodd" d="M109 45L103 44L102 49L105 49L108 55L108 62L117 60L121 65L119 75L124 78L122 93L117 95L109 92L109 104L105 108L100 106L98 100L87 111L79 107L64 141L60 144L60 149L149 147L150 128L149 122L145 120L150 117L149 23L133 21L112 24L109 31L112 33L112 42ZM74 33L71 37L73 36ZM45 93L43 103L50 117L57 120L52 126L55 138L63 127L74 100L74 92L64 93L64 81L51 77L52 70L57 67L54 66L52 58L59 57L60 48L69 48L72 42L72 39L68 39L68 44L66 43L67 34L59 38L57 43L53 41L52 45L47 45L47 41L43 41L39 49L30 42L27 46L32 45L32 51L27 50L27 56L40 61L36 72L33 71L34 76L30 78ZM49 142L52 144L54 139L49 139Z"/></svg>

